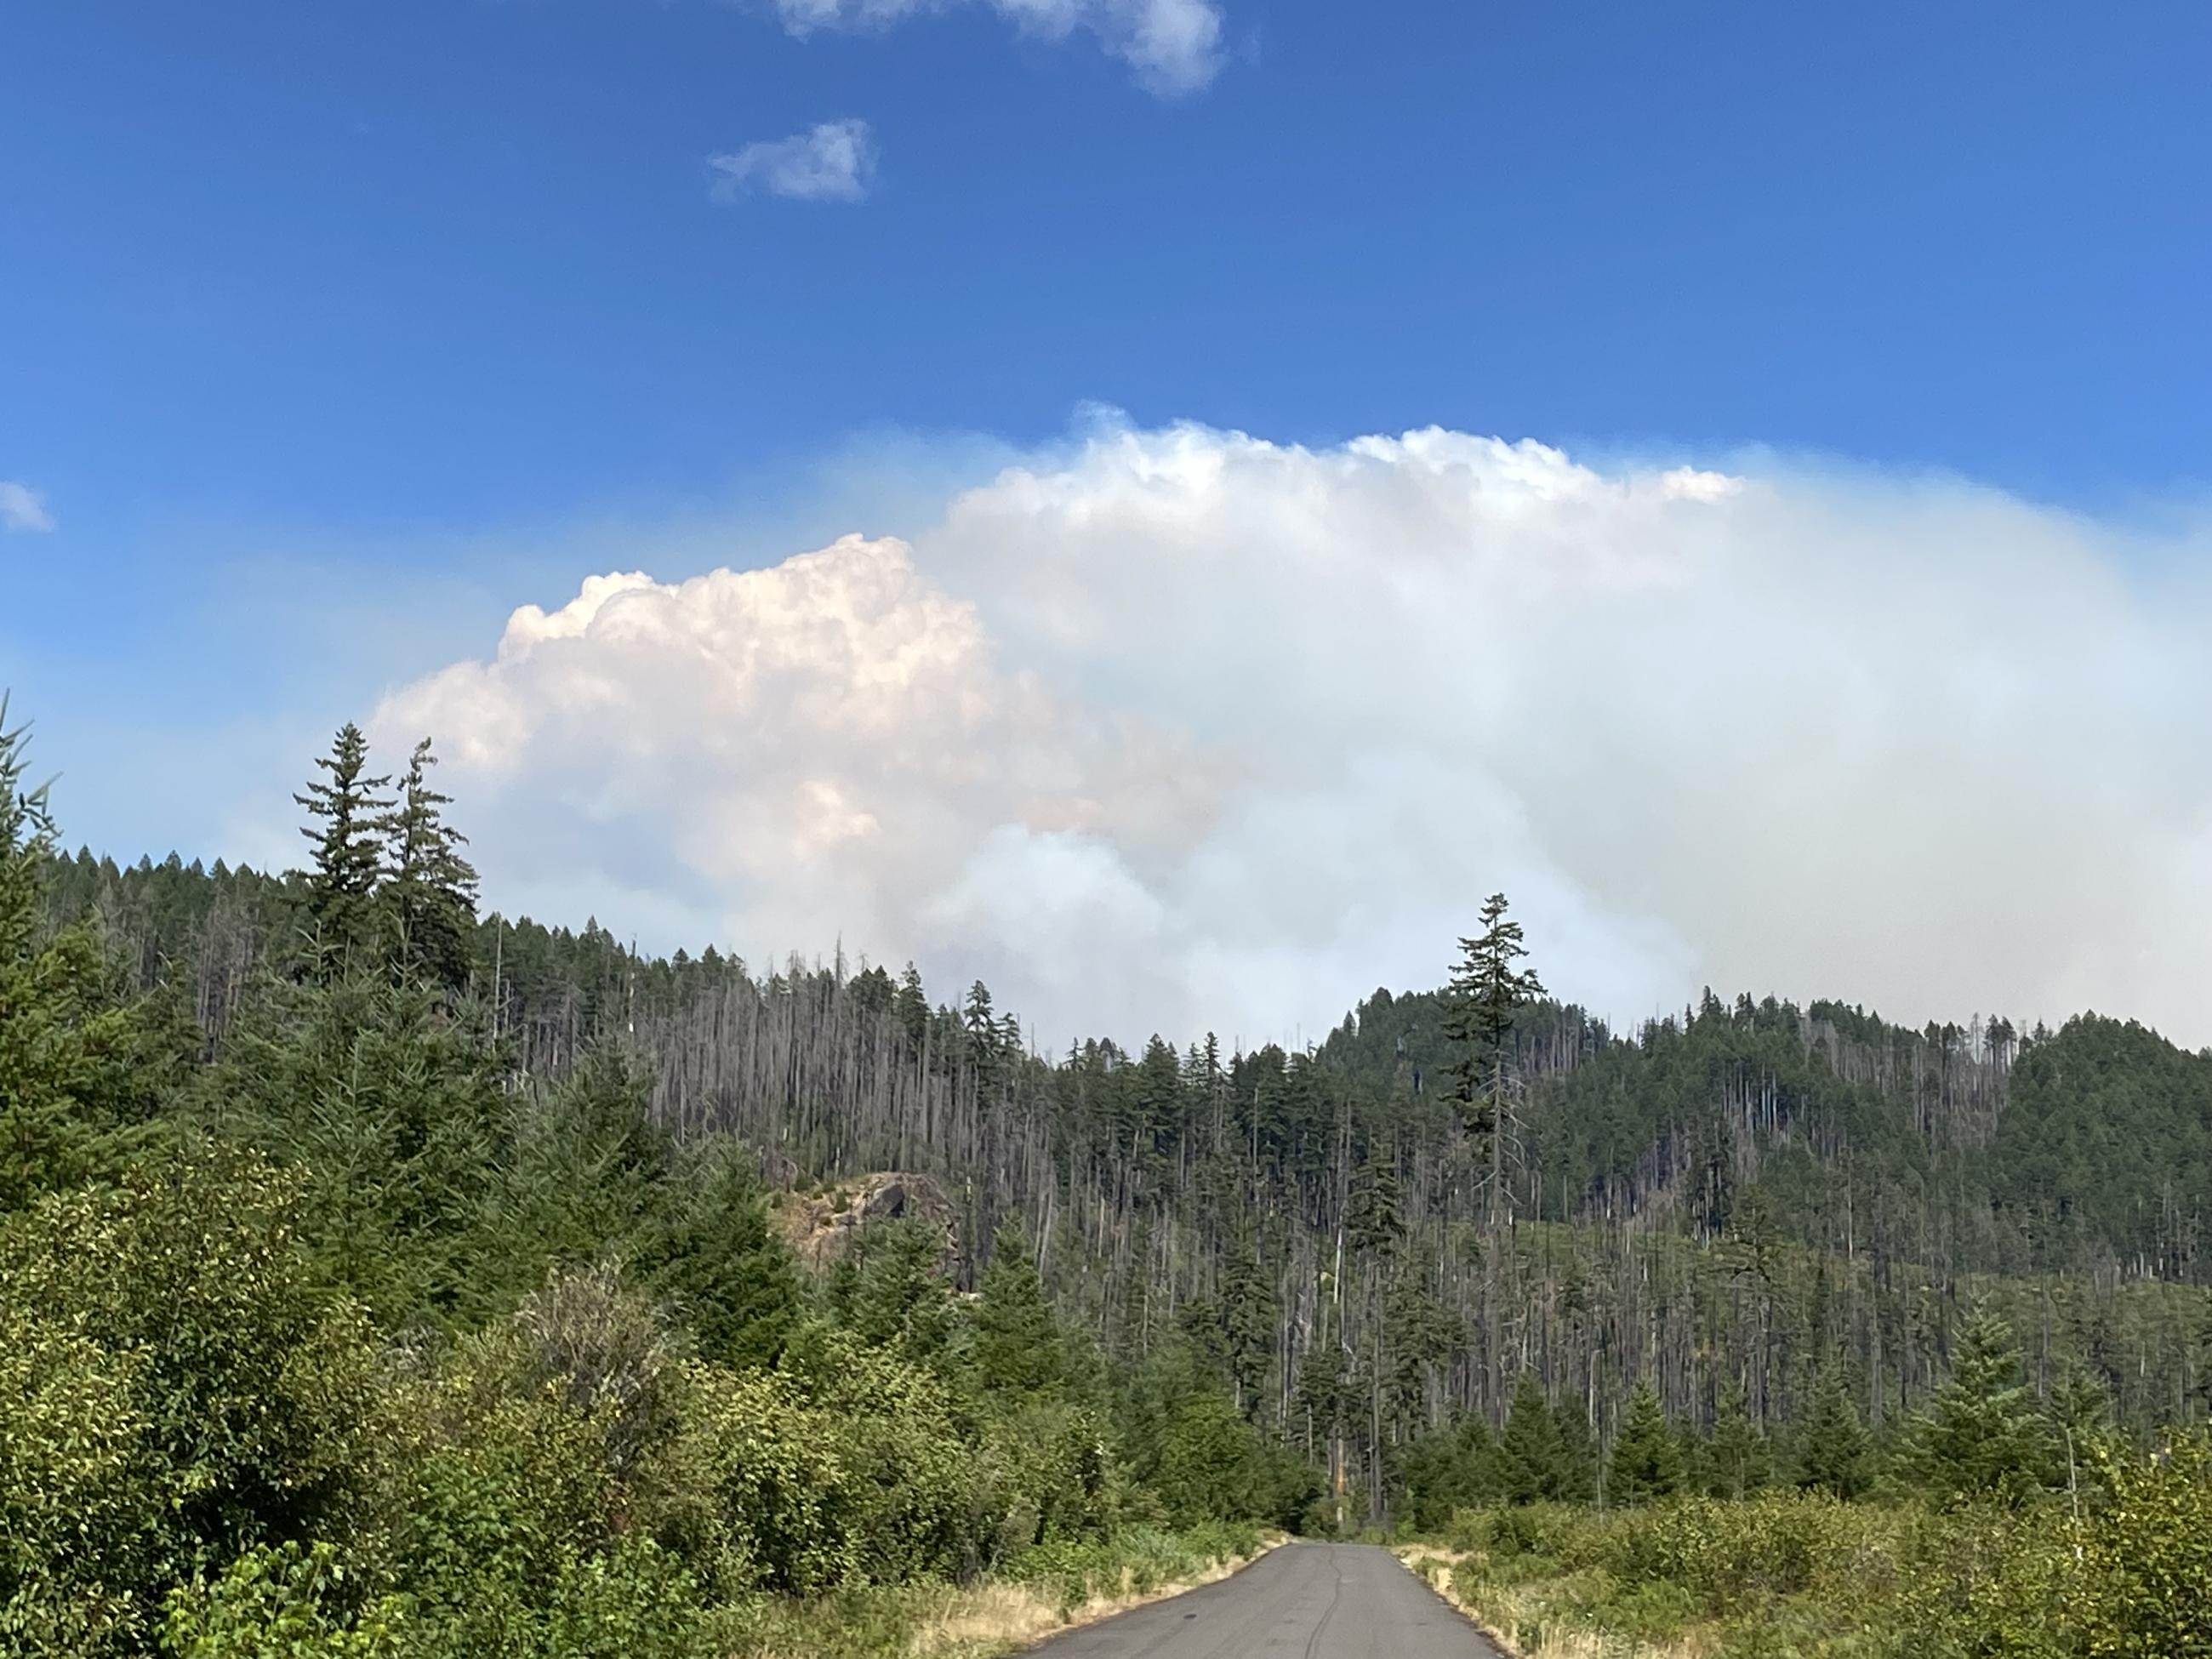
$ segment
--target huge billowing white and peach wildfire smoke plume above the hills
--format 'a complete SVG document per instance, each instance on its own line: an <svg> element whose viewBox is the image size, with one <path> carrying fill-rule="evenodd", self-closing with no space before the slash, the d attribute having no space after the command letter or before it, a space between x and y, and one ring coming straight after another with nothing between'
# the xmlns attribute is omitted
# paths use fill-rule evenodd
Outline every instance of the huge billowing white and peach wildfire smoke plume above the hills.
<svg viewBox="0 0 2212 1659"><path fill-rule="evenodd" d="M2212 1037L2212 604L1962 484L1110 431L914 546L593 577L405 688L489 896L1314 1037L1506 889L1555 991Z"/></svg>

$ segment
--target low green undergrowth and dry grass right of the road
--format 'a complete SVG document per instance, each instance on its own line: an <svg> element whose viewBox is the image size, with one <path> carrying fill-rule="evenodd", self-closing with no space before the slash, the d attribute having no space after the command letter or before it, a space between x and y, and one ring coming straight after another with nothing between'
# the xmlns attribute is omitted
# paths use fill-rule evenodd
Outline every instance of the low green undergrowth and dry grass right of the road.
<svg viewBox="0 0 2212 1659"><path fill-rule="evenodd" d="M1533 1504L1429 1544L1467 1608L1546 1659L2212 1657L2201 1436L2101 1453L2079 1500Z"/></svg>

